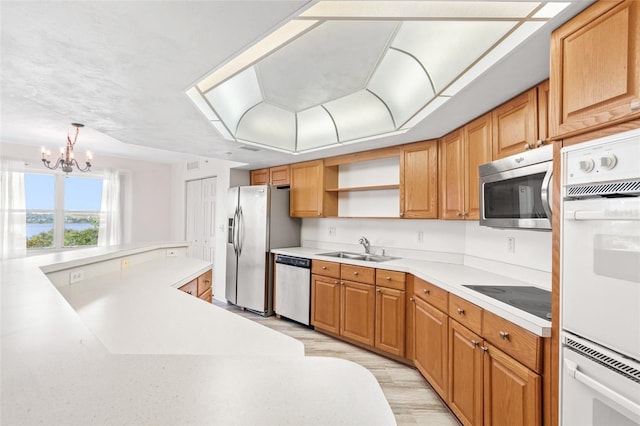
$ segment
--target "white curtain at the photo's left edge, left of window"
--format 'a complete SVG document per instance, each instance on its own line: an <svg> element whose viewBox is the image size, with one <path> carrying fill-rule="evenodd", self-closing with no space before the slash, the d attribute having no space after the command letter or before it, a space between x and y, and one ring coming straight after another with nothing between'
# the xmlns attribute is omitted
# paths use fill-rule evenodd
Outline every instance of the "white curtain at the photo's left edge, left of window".
<svg viewBox="0 0 640 426"><path fill-rule="evenodd" d="M15 171L22 164L2 160L0 166L0 259L26 256L24 173Z"/></svg>

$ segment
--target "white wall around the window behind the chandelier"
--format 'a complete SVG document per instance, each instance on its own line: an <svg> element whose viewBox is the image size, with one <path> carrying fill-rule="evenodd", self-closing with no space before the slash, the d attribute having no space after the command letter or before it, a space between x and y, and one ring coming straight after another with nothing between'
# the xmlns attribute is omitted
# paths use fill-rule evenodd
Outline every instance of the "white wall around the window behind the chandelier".
<svg viewBox="0 0 640 426"><path fill-rule="evenodd" d="M25 171L52 172L40 161L40 149L35 146L2 144L0 156L26 163ZM123 206L125 217L124 242L168 241L171 238L171 166L128 158L96 155L92 172L105 168L125 173L129 194ZM52 173L62 173L53 171Z"/></svg>

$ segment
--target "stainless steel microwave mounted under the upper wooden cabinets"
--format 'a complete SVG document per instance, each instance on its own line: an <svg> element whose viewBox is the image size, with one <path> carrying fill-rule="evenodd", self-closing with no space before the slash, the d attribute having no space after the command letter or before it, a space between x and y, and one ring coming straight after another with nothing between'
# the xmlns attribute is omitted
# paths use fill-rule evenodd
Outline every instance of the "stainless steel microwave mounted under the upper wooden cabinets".
<svg viewBox="0 0 640 426"><path fill-rule="evenodd" d="M553 146L480 165L480 225L551 229Z"/></svg>

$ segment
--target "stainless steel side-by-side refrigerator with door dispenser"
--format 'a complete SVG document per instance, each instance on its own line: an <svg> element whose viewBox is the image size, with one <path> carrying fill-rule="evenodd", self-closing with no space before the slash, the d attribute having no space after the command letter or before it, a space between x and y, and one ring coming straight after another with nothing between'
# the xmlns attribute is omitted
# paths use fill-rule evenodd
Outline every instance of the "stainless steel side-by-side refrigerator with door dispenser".
<svg viewBox="0 0 640 426"><path fill-rule="evenodd" d="M227 203L227 301L271 315L270 250L300 245L300 219L289 217L289 190L237 186L229 188Z"/></svg>

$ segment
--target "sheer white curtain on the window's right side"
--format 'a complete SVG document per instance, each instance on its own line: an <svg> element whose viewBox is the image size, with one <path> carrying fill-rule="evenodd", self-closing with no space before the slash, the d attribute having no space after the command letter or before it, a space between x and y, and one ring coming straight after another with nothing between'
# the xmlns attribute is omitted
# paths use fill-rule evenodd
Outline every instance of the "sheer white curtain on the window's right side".
<svg viewBox="0 0 640 426"><path fill-rule="evenodd" d="M104 171L102 181L102 204L100 206L100 228L98 245L118 245L122 239L120 202L120 175L116 170Z"/></svg>

